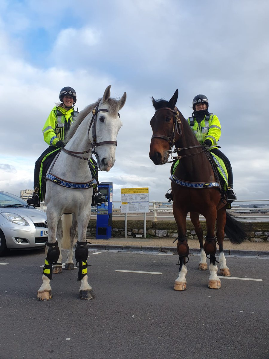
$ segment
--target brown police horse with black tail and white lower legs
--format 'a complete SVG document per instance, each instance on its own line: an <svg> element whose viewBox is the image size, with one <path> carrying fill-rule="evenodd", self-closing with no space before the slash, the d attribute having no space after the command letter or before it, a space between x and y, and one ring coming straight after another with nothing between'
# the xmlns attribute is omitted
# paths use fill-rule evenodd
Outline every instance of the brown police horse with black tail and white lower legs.
<svg viewBox="0 0 269 359"><path fill-rule="evenodd" d="M200 243L199 269L206 270L206 255L210 256L209 288L220 289L221 282L217 276L216 242L220 248L220 274L230 276L223 253L224 232L232 243L242 243L246 239L245 225L226 213L227 196L221 191L220 179L212 166L212 158L205 146L194 136L188 122L175 107L178 90L170 101L155 100L152 103L156 110L150 121L153 136L150 144L150 158L155 164L165 164L172 153L178 153L180 159L172 181L173 214L178 227L177 252L179 254L179 277L175 280L175 290L186 289L186 258L189 246L186 237L186 217L190 219ZM183 152L183 154L181 154ZM199 214L206 219L207 234L203 244L203 230ZM217 231L215 236L215 225Z"/></svg>

